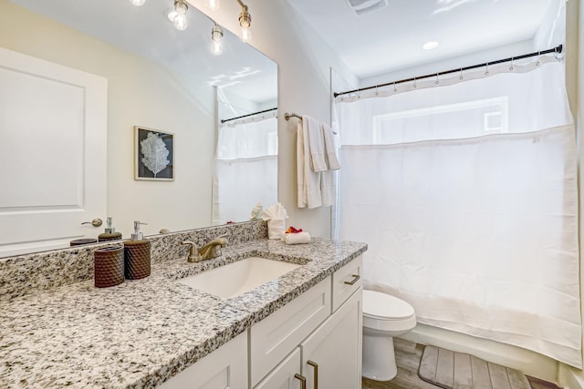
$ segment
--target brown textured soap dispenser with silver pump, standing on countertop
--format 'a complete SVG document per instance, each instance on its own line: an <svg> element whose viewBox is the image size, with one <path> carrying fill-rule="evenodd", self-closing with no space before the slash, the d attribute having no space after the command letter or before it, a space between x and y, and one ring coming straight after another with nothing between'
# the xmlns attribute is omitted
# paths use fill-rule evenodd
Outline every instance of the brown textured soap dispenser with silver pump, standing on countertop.
<svg viewBox="0 0 584 389"><path fill-rule="evenodd" d="M141 224L146 223L134 221L134 232L131 234L131 239L124 241L124 274L127 280L140 280L150 275L150 241L144 239L140 231Z"/></svg>

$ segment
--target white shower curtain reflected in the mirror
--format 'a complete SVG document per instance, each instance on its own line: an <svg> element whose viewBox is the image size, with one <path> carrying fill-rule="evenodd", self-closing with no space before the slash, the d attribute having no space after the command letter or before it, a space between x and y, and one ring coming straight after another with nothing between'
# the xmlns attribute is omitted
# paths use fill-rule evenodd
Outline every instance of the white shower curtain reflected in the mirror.
<svg viewBox="0 0 584 389"><path fill-rule="evenodd" d="M277 202L276 118L219 128L213 224L249 220L258 202Z"/></svg>

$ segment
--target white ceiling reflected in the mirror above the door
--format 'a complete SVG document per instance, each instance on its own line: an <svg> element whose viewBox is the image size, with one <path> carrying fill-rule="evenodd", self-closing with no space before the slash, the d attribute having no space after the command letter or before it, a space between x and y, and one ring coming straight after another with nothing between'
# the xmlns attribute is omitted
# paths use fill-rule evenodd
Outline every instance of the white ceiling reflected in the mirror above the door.
<svg viewBox="0 0 584 389"><path fill-rule="evenodd" d="M187 13L189 26L179 31L166 16L171 0L148 0L142 6L128 0L10 1L170 68L183 81L229 85L257 103L277 97L276 63L227 30L223 54L212 55L214 23L193 6Z"/></svg>

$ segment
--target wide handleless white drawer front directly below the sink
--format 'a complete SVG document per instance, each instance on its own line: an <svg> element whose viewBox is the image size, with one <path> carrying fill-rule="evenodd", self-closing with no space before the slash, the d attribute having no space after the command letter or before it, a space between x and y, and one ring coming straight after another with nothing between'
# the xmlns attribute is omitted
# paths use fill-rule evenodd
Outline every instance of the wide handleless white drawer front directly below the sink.
<svg viewBox="0 0 584 389"><path fill-rule="evenodd" d="M330 277L249 329L254 387L330 315Z"/></svg>

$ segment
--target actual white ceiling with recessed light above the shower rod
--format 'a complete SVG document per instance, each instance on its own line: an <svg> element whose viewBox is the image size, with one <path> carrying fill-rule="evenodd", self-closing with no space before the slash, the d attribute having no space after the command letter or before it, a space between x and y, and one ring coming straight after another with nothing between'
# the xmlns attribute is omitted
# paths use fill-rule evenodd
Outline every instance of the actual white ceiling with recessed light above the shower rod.
<svg viewBox="0 0 584 389"><path fill-rule="evenodd" d="M557 0L388 0L367 15L347 0L288 2L365 78L529 40Z"/></svg>

